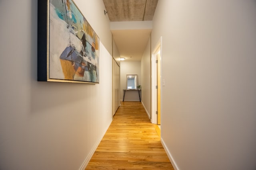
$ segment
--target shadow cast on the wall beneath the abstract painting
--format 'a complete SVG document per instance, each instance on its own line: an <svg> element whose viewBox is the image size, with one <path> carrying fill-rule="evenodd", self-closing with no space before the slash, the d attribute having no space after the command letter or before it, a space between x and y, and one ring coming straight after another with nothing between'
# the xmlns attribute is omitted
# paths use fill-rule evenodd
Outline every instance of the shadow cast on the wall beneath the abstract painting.
<svg viewBox="0 0 256 170"><path fill-rule="evenodd" d="M31 82L30 91L31 113L88 100L88 97L94 95L93 90L87 90L88 86L95 86L95 84L37 82L34 80Z"/></svg>

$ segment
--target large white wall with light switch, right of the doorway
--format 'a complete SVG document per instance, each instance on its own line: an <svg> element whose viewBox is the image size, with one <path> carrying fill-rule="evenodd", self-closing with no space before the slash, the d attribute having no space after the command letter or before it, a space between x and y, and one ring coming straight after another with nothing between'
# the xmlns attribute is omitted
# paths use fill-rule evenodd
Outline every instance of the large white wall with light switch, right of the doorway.
<svg viewBox="0 0 256 170"><path fill-rule="evenodd" d="M256 1L160 0L162 143L179 170L256 169ZM174 164L174 166L175 166Z"/></svg>

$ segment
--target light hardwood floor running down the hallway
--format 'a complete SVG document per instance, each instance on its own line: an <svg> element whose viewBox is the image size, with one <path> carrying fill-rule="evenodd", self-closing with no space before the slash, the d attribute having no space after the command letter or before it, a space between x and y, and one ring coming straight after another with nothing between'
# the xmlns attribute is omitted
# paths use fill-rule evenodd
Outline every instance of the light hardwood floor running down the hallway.
<svg viewBox="0 0 256 170"><path fill-rule="evenodd" d="M174 170L141 102L121 102L86 170Z"/></svg>

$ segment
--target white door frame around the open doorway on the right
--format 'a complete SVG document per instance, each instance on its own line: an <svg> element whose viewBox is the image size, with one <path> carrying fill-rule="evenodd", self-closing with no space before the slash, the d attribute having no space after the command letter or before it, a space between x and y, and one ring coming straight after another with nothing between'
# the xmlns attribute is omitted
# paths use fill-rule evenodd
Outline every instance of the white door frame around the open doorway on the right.
<svg viewBox="0 0 256 170"><path fill-rule="evenodd" d="M151 56L151 123L157 124L157 64L156 64L156 59L157 59L157 53L160 51L160 68L162 70L162 37L160 37L160 40L156 44L152 56ZM161 78L162 71L160 71L160 84L162 86L162 78ZM162 92L160 92L160 95ZM160 104L161 105L161 104Z"/></svg>

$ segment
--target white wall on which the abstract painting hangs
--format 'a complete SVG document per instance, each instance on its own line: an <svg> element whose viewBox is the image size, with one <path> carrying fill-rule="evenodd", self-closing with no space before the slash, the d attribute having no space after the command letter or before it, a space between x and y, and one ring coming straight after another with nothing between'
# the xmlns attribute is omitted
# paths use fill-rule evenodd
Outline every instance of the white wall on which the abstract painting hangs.
<svg viewBox="0 0 256 170"><path fill-rule="evenodd" d="M111 46L103 2L76 2ZM0 14L0 169L80 169L112 121L108 50L100 43L100 84L37 82L37 1L3 0Z"/></svg>

